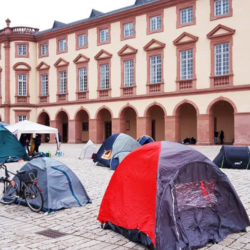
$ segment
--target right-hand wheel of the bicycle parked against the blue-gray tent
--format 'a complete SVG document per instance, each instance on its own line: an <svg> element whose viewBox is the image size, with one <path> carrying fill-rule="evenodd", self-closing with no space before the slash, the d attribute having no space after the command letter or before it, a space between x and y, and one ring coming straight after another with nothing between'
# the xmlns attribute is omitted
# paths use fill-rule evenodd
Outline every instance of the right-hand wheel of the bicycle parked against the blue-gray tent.
<svg viewBox="0 0 250 250"><path fill-rule="evenodd" d="M24 186L24 198L28 207L34 211L39 212L43 208L43 195L37 185L32 183L25 184Z"/></svg>

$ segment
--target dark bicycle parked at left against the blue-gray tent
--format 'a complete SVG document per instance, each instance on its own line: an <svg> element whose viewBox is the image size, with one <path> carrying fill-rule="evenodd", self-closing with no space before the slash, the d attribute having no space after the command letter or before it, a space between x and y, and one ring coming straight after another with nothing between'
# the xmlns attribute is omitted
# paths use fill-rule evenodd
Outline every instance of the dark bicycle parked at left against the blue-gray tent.
<svg viewBox="0 0 250 250"><path fill-rule="evenodd" d="M0 169L3 169L5 173L5 176L0 178L0 183L3 183L3 196L0 202L3 204L12 204L20 198L20 201L26 201L31 211L41 211L44 199L42 190L37 186L37 170L32 169L13 173L9 171L5 165L10 159L11 157L5 162L0 163ZM12 174L14 178L11 179L10 174Z"/></svg>

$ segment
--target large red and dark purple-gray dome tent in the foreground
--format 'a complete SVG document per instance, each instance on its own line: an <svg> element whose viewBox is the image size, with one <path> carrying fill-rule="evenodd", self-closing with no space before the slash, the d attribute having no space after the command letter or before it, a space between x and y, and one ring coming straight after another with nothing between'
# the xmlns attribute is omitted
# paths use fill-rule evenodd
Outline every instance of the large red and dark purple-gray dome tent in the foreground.
<svg viewBox="0 0 250 250"><path fill-rule="evenodd" d="M118 166L103 197L104 228L152 249L193 249L250 225L227 176L191 147L152 142Z"/></svg>

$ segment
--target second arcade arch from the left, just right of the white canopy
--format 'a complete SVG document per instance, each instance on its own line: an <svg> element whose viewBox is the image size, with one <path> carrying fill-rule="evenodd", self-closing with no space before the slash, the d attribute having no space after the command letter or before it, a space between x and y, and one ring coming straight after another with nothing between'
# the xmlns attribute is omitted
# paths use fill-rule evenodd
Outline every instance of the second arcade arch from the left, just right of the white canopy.
<svg viewBox="0 0 250 250"><path fill-rule="evenodd" d="M68 142L69 115L63 109L56 114L56 127L62 137L62 142Z"/></svg>

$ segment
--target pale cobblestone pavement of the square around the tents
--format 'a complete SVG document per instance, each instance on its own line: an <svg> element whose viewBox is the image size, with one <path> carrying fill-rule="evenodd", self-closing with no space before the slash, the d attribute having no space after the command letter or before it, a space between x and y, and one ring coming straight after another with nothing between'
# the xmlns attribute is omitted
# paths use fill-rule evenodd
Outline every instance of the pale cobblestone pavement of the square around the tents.
<svg viewBox="0 0 250 250"><path fill-rule="evenodd" d="M91 204L65 209L46 215L34 213L21 205L0 204L0 249L146 249L111 230L103 230L97 221L99 206L113 174L108 168L98 167L91 160L78 159L83 144L63 144L62 157L55 157L69 166L80 178L87 190ZM194 146L208 158L213 159L219 146ZM42 144L43 152L55 152L55 145ZM10 163L9 169L19 169L24 163ZM250 216L250 171L223 170L237 190ZM38 232L52 229L65 233L59 238L50 238ZM250 250L250 227L245 233L229 235L215 245L202 250Z"/></svg>

